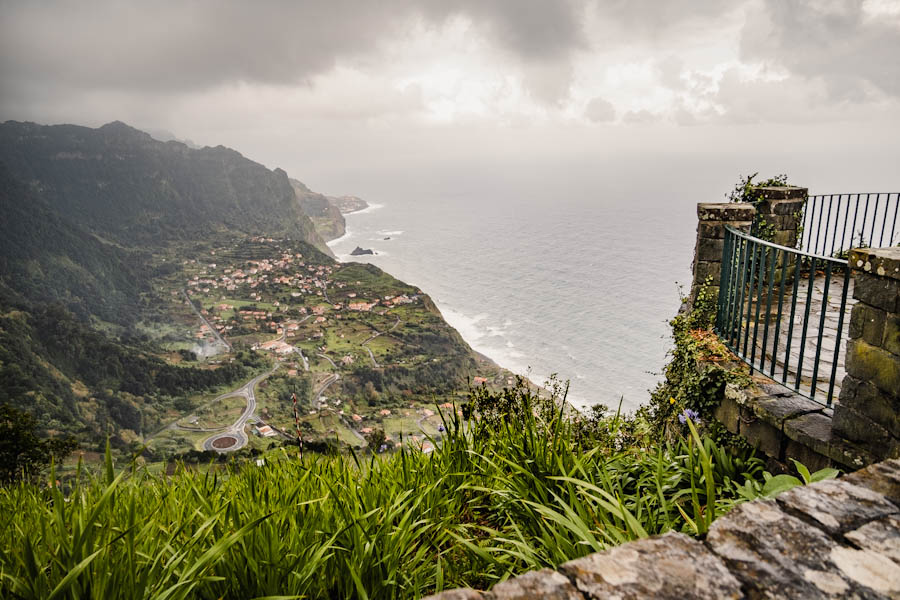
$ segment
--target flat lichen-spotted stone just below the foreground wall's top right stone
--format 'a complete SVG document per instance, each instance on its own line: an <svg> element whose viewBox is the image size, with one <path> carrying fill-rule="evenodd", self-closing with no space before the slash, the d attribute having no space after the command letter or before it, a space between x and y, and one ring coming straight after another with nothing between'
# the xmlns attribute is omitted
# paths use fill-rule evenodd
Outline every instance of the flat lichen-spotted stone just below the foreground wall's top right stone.
<svg viewBox="0 0 900 600"><path fill-rule="evenodd" d="M806 515L831 535L900 513L882 494L840 479L796 487L777 500L782 509Z"/></svg>

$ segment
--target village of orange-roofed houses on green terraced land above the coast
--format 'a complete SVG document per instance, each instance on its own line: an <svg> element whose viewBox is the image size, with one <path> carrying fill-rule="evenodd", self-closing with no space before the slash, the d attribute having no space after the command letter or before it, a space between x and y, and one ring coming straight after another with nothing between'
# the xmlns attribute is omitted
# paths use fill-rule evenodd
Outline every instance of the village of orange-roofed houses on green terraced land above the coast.
<svg viewBox="0 0 900 600"><path fill-rule="evenodd" d="M262 353L274 367L256 386L245 422L251 448L297 438L296 394L301 437L314 447L374 443L372 450L383 452L411 444L430 451L468 385L513 383L496 365L473 360L420 290L371 266L336 263L301 244L261 237L209 249L180 266L180 278L166 282L168 295L182 311L195 312L185 320L193 327L181 349L211 368L246 351ZM423 365L446 372L441 380L456 376L459 385L451 391L441 381L446 389L435 394L411 376ZM197 409L155 443L227 449L210 436L241 416L245 396L196 400Z"/></svg>

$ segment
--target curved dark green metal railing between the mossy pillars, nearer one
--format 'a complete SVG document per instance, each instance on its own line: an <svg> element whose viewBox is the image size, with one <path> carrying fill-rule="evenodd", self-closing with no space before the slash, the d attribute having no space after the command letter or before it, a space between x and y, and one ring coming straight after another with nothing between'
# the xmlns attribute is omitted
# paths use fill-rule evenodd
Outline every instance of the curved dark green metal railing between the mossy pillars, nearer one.
<svg viewBox="0 0 900 600"><path fill-rule="evenodd" d="M751 372L831 406L850 287L846 260L726 227L716 332Z"/></svg>

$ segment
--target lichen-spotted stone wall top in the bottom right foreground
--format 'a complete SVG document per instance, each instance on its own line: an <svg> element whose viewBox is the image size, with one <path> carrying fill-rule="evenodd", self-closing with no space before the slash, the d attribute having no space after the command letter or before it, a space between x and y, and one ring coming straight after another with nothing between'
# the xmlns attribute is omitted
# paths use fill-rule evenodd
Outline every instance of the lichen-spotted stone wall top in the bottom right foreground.
<svg viewBox="0 0 900 600"><path fill-rule="evenodd" d="M900 598L900 461L741 504L705 540L667 533L428 598Z"/></svg>

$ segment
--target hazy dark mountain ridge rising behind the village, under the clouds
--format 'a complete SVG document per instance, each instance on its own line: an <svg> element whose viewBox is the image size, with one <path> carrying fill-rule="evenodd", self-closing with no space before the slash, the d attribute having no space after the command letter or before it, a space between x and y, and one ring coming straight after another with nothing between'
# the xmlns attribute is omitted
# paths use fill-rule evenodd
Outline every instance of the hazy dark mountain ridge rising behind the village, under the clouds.
<svg viewBox="0 0 900 600"><path fill-rule="evenodd" d="M160 142L118 121L97 129L7 121L0 162L62 216L126 246L231 231L330 254L287 173L224 146Z"/></svg>

